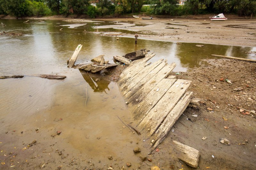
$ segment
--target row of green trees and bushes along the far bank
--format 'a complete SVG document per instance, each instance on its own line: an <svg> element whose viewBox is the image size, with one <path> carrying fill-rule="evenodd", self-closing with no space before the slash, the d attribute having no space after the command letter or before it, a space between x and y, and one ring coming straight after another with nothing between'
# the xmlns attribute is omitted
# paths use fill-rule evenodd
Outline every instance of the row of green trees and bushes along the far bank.
<svg viewBox="0 0 256 170"><path fill-rule="evenodd" d="M184 5L178 0L0 0L0 14L16 17L86 14L95 18L140 12L172 16L232 13L252 18L256 0L187 0Z"/></svg>

